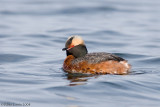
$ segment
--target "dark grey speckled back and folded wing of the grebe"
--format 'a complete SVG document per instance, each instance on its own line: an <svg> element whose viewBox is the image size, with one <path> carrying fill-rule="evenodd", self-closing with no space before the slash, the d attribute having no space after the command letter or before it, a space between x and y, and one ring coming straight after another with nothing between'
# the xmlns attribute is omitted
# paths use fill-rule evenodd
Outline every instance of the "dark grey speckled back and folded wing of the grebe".
<svg viewBox="0 0 160 107"><path fill-rule="evenodd" d="M83 61L86 61L90 64L96 64L96 63L109 61L109 60L118 61L118 62L125 61L123 58L118 57L114 54L106 53L106 52L99 52L99 53L88 53L83 57L75 58L72 61L72 64L77 64Z"/></svg>

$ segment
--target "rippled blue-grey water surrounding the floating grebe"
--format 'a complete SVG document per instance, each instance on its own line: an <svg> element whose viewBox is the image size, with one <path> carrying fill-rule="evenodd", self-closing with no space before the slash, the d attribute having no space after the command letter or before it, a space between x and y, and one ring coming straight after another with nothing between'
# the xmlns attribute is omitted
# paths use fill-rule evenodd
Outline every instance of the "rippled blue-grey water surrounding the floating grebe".
<svg viewBox="0 0 160 107"><path fill-rule="evenodd" d="M129 75L68 75L61 49L132 64ZM31 107L160 107L159 0L0 0L0 102Z"/></svg>

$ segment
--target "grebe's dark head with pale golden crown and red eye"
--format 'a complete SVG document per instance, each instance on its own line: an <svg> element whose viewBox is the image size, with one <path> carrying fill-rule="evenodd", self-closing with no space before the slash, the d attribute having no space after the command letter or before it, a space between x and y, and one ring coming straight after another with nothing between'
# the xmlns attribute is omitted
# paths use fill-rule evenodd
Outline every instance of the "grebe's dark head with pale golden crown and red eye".
<svg viewBox="0 0 160 107"><path fill-rule="evenodd" d="M62 50L66 50L67 56L73 55L76 58L87 54L87 48L83 39L77 35L70 36L66 41L65 48Z"/></svg>

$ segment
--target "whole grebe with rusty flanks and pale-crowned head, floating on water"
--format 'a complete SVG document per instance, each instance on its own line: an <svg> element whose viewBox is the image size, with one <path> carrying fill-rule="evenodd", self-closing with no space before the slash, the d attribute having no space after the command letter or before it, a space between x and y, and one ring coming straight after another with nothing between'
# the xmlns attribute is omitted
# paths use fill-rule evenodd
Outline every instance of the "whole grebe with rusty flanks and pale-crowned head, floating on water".
<svg viewBox="0 0 160 107"><path fill-rule="evenodd" d="M123 75L131 68L126 60L116 55L105 52L88 53L79 36L69 37L63 50L67 53L63 69L68 73Z"/></svg>

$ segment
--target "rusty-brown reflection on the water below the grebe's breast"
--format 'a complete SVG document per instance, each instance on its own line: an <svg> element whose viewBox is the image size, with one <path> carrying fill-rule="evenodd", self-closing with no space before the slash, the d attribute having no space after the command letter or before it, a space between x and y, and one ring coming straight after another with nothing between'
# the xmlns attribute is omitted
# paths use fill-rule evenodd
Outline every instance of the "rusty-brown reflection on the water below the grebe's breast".
<svg viewBox="0 0 160 107"><path fill-rule="evenodd" d="M97 78L98 75L81 74L81 73L67 73L67 79L70 81L69 86L85 85L90 77Z"/></svg>

